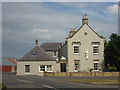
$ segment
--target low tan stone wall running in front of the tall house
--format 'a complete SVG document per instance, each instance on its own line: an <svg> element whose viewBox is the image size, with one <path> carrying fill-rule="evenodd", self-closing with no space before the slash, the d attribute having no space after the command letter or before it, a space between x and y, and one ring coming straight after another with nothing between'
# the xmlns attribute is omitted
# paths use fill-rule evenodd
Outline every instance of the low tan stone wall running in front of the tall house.
<svg viewBox="0 0 120 90"><path fill-rule="evenodd" d="M118 76L120 72L45 72L44 76Z"/></svg>

